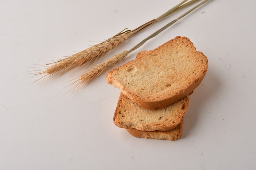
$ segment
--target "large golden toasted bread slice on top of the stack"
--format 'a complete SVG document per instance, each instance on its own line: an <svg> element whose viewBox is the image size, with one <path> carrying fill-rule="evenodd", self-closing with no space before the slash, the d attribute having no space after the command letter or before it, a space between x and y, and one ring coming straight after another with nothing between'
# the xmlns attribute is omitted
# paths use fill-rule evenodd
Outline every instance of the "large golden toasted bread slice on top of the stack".
<svg viewBox="0 0 256 170"><path fill-rule="evenodd" d="M106 75L108 84L139 106L156 109L190 95L207 72L207 57L186 37L176 37L152 51L141 51Z"/></svg>

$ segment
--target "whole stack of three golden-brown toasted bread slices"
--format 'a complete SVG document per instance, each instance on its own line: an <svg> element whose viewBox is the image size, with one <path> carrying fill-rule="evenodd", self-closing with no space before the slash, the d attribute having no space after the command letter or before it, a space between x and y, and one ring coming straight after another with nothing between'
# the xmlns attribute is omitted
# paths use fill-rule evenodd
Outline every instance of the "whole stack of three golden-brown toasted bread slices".
<svg viewBox="0 0 256 170"><path fill-rule="evenodd" d="M189 95L207 72L207 57L186 37L177 36L108 72L121 94L113 117L135 137L177 140L182 136Z"/></svg>

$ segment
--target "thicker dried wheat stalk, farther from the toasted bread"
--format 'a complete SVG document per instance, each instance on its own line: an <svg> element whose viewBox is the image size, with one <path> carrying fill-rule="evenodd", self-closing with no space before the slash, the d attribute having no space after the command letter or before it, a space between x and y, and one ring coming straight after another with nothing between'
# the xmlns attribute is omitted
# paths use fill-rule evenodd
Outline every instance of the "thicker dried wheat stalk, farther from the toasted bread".
<svg viewBox="0 0 256 170"><path fill-rule="evenodd" d="M133 30L126 30L121 31L117 35L113 36L112 38L109 38L108 40L101 42L99 44L96 44L94 46L89 47L88 49L85 49L84 51L81 51L79 53L76 53L70 57L67 57L65 59L59 60L57 62L45 64L46 66L49 66L45 71L37 73L36 75L45 74L47 75L62 75L64 73L67 73L68 71L72 70L73 68L82 66L84 64L90 63L93 59L103 55L107 51L110 51L117 45L124 42L126 39L128 39L130 36L137 34L144 29L146 29L148 26L152 25L153 23L162 20L163 18L167 17L168 15L171 15L172 13L175 13L199 0L191 0L190 2L187 2L188 0L183 0L179 4L177 4L175 7L171 8L167 12L165 12L163 15L159 16L158 18L154 20L150 20L149 22L146 22L145 24L137 27ZM183 5L182 5L183 4ZM43 76L42 78L44 78Z"/></svg>

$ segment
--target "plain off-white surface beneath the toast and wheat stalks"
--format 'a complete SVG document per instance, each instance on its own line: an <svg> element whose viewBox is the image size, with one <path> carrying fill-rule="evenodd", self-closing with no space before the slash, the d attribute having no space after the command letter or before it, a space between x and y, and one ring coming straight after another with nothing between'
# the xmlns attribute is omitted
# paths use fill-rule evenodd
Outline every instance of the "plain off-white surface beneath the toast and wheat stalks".
<svg viewBox="0 0 256 170"><path fill-rule="evenodd" d="M38 69L31 67L135 29L179 2L0 0L0 170L255 170L255 0L210 0L115 65L177 35L208 57L178 141L136 138L115 126L120 91L106 83L106 72L74 94L65 86L79 70L33 83L40 76L31 76ZM181 13L106 57L129 50Z"/></svg>

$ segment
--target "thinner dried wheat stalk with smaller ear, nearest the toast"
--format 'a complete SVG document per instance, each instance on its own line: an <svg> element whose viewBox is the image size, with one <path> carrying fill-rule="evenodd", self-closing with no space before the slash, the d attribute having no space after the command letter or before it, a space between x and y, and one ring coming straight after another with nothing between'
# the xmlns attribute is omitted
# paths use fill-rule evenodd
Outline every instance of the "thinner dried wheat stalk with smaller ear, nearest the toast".
<svg viewBox="0 0 256 170"><path fill-rule="evenodd" d="M80 78L75 82L76 86L75 88L80 88L83 85L86 85L88 82L90 82L94 77L96 77L97 75L100 75L101 73L103 73L104 71L106 71L107 68L109 68L110 66L112 66L113 64L115 64L116 62L118 62L119 60L122 60L124 57L126 57L129 53L131 53L132 51L134 51L135 49L138 49L140 46L142 46L146 41L148 41L149 39L157 36L159 33L161 33L162 31L164 31L165 29L167 29L169 26L173 25L175 22L177 22L178 20L180 20L181 18L183 18L184 16L186 16L187 14L189 14L190 12L192 12L193 10L195 10L196 8L200 7L202 4L206 3L209 0L204 0L201 3L197 4L195 7L191 8L190 10L186 11L185 13L183 13L182 15L180 15L178 18L176 18L175 20L169 22L168 24L166 24L165 26L163 26L162 28L160 28L159 30L155 31L154 33L152 33L151 35L149 35L147 38L145 38L144 40L142 40L141 42L139 42L136 46L134 46L132 49L130 49L129 51L124 51L123 53L119 53L117 55L114 55L113 57L110 57L108 60L106 60L105 62L102 62L100 64L97 64L97 66L91 68L90 70L86 71L85 73L83 73Z"/></svg>

